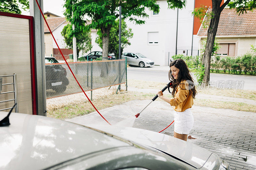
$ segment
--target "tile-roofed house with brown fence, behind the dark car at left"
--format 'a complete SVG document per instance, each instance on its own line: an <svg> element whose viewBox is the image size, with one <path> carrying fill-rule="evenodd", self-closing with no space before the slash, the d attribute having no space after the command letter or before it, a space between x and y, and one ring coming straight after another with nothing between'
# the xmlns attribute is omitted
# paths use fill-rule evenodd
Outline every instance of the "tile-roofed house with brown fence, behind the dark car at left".
<svg viewBox="0 0 256 170"><path fill-rule="evenodd" d="M66 47L66 43L64 41L64 37L61 35L61 31L63 30L64 26L66 26L68 23L66 21L66 18L64 17L51 17L46 18L46 21L52 31L52 34L57 41L61 52L65 56L66 59L69 58L68 54L72 54L73 50L68 49ZM54 56L57 60L63 60L62 56L60 54L60 51L55 43L55 41L52 38L52 35L44 22L44 47L45 47L45 56Z"/></svg>

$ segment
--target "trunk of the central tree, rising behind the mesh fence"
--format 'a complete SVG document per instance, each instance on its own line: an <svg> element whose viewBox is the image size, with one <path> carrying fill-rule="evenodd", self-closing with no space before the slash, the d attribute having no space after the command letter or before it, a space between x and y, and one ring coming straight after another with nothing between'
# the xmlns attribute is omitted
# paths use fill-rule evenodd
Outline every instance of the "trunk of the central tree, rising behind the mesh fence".
<svg viewBox="0 0 256 170"><path fill-rule="evenodd" d="M107 28L100 28L102 33L102 60L108 59L108 43L109 43L109 33L111 26L107 26ZM101 72L100 77L108 76L108 65L107 62L101 63Z"/></svg>

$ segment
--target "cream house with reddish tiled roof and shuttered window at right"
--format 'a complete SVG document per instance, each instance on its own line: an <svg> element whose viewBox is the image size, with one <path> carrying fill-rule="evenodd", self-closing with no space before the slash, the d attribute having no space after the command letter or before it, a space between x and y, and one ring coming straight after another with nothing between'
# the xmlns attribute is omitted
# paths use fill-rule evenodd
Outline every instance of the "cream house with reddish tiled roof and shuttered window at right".
<svg viewBox="0 0 256 170"><path fill-rule="evenodd" d="M197 33L201 49L202 41L207 38L207 31L208 27L201 25ZM256 45L256 10L239 15L236 9L224 8L215 39L220 43L217 55L236 57L251 52L251 45Z"/></svg>

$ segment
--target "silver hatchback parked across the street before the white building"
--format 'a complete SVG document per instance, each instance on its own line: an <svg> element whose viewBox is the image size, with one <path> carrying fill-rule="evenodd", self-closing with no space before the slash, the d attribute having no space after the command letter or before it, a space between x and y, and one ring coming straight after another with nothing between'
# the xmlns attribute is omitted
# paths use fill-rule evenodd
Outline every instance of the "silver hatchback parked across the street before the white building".
<svg viewBox="0 0 256 170"><path fill-rule="evenodd" d="M150 58L140 54L140 53L131 53L126 52L122 55L122 58L127 59L127 64L136 65L140 67L151 67L155 65L155 62Z"/></svg>

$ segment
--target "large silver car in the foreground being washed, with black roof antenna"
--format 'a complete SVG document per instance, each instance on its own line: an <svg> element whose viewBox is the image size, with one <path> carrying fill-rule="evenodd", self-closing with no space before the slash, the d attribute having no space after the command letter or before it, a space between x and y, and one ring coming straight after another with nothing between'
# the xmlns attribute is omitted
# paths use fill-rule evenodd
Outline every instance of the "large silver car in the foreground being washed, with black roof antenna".
<svg viewBox="0 0 256 170"><path fill-rule="evenodd" d="M0 120L7 114L0 112ZM0 123L0 136L0 169L229 169L212 152L143 129L11 113Z"/></svg>

